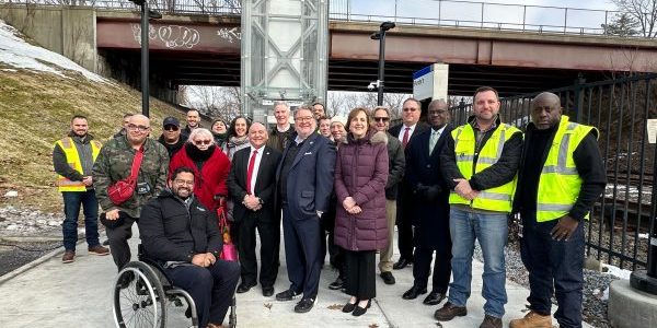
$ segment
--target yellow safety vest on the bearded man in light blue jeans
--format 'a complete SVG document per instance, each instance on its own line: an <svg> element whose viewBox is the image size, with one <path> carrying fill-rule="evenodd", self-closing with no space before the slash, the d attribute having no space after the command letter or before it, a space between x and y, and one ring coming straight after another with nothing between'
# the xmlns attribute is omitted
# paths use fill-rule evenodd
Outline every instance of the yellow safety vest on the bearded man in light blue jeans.
<svg viewBox="0 0 657 328"><path fill-rule="evenodd" d="M480 150L475 163L474 151L476 148L476 136L474 129L469 124L456 128L452 131L452 137L454 138L457 166L463 177L470 179L474 173L480 173L497 163L502 156L505 142L511 139L511 136L515 133L522 132L516 127L500 124ZM449 195L449 203L466 204L473 209L510 213L514 192L516 191L517 177L518 176L516 175L511 181L502 186L481 190L479 196L472 201L462 198L457 192L452 191Z"/></svg>

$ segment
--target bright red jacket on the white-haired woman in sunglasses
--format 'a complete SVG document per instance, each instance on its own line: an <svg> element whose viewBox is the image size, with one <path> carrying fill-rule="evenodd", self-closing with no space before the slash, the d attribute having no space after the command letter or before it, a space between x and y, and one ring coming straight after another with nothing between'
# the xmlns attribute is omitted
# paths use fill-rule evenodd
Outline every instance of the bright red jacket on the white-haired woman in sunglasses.
<svg viewBox="0 0 657 328"><path fill-rule="evenodd" d="M178 167L187 166L194 171L196 176L194 181L194 195L200 203L210 210L219 207L219 199L216 196L228 196L226 179L230 173L230 161L228 156L219 149L215 148L212 155L203 163L200 173L198 166L194 163L187 149L183 147L169 164L169 177Z"/></svg>

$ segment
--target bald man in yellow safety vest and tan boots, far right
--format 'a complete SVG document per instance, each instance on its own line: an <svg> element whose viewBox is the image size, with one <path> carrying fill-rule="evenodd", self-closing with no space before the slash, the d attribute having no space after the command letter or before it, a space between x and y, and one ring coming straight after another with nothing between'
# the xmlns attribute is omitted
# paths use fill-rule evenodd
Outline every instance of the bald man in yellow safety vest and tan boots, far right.
<svg viewBox="0 0 657 328"><path fill-rule="evenodd" d="M607 183L598 129L562 115L560 97L549 92L532 99L530 114L514 201L522 219L530 312L510 327L552 327L553 293L560 327L581 327L583 220Z"/></svg>

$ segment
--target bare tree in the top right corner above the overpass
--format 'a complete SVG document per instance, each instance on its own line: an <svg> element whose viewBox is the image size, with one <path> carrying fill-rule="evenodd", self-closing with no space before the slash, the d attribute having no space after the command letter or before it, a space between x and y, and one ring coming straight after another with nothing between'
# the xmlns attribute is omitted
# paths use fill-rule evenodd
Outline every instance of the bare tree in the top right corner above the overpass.
<svg viewBox="0 0 657 328"><path fill-rule="evenodd" d="M618 25L619 20L623 19L625 22L621 23L625 25L636 24L639 35L657 37L657 0L611 0L611 2L622 12L612 24Z"/></svg>

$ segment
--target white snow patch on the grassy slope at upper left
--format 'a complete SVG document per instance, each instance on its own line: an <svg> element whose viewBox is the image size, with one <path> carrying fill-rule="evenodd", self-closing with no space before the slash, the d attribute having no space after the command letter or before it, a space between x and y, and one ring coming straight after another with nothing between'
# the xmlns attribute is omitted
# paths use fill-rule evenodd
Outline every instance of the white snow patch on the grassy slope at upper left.
<svg viewBox="0 0 657 328"><path fill-rule="evenodd" d="M20 69L48 72L67 78L59 69L61 68L80 72L91 81L108 82L59 54L26 43L19 35L20 33L14 27L0 20L0 62Z"/></svg>

